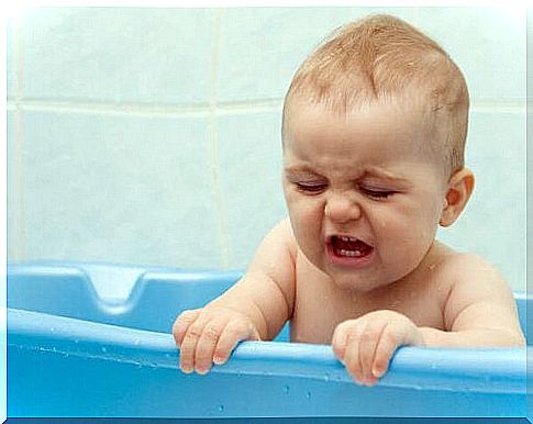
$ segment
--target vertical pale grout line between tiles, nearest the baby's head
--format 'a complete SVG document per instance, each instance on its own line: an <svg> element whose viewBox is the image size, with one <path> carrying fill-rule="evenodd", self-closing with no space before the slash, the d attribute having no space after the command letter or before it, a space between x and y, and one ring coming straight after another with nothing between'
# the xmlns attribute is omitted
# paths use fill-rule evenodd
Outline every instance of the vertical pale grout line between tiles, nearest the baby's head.
<svg viewBox="0 0 533 424"><path fill-rule="evenodd" d="M219 239L220 266L227 268L231 261L231 247L227 227L227 214L220 180L220 157L219 157L219 137L216 125L216 85L219 77L219 58L220 58L220 32L222 25L222 10L212 9L213 13L213 33L211 38L211 83L209 98L209 159L211 168L211 192L214 200L216 216L216 230Z"/></svg>

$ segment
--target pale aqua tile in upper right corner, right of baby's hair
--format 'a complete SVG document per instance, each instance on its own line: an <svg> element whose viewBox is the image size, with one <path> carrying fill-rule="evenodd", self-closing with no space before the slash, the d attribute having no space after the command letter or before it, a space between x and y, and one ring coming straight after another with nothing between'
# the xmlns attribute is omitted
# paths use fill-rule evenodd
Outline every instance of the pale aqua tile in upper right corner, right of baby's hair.
<svg viewBox="0 0 533 424"><path fill-rule="evenodd" d="M513 8L420 8L414 23L456 62L473 100L525 99L525 14Z"/></svg>

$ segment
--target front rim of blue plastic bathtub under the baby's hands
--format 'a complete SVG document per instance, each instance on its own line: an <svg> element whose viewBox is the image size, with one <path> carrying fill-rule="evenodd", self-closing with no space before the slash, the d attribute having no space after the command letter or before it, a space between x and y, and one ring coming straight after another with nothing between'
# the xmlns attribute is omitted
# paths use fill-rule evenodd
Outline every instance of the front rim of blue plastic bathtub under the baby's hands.
<svg viewBox="0 0 533 424"><path fill-rule="evenodd" d="M33 349L65 358L90 357L141 367L175 369L178 349L171 334L7 309L8 349ZM520 348L401 347L377 387L470 393L526 392L526 354ZM8 356L9 364L9 356ZM331 346L285 342L242 342L231 359L212 372L311 378L354 383ZM437 378L435 378L437 377Z"/></svg>

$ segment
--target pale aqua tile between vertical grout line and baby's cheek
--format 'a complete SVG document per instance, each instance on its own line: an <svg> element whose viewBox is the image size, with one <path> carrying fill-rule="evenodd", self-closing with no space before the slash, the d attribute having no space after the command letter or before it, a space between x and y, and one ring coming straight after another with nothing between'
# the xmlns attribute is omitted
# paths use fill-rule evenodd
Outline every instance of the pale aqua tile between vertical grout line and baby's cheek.
<svg viewBox="0 0 533 424"><path fill-rule="evenodd" d="M287 214L280 116L281 109L219 116L220 179L234 268L248 265L266 233Z"/></svg>

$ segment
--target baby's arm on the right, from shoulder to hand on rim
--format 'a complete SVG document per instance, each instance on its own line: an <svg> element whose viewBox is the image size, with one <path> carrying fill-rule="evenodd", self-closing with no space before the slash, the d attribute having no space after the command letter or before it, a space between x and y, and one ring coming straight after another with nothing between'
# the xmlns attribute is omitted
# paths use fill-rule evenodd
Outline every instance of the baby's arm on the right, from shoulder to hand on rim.
<svg viewBox="0 0 533 424"><path fill-rule="evenodd" d="M406 315L387 310L335 328L333 349L356 381L375 384L399 346L524 345L512 292L495 267L474 255L457 255L445 265L441 280L451 281L443 306L447 331L418 327Z"/></svg>

